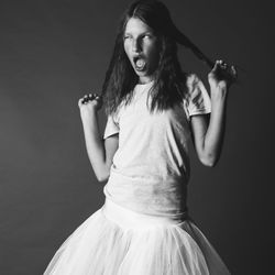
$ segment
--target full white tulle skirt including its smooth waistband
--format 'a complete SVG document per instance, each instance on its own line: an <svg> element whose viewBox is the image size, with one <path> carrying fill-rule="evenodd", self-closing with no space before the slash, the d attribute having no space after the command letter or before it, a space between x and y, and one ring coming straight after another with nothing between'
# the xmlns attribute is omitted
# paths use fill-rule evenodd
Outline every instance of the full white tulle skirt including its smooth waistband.
<svg viewBox="0 0 275 275"><path fill-rule="evenodd" d="M226 275L227 266L186 217L147 216L106 199L57 250L44 275Z"/></svg>

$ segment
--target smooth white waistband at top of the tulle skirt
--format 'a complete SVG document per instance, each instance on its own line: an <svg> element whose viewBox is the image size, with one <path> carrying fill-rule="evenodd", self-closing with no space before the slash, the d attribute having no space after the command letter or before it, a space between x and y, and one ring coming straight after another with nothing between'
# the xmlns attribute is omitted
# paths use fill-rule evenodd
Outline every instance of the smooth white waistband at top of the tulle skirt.
<svg viewBox="0 0 275 275"><path fill-rule="evenodd" d="M121 207L108 198L106 198L102 211L109 220L118 223L123 228L142 229L156 226L179 226L187 219L187 212L184 212L183 215L180 215L180 217L178 216L177 219L175 219L175 217L162 217L140 213Z"/></svg>

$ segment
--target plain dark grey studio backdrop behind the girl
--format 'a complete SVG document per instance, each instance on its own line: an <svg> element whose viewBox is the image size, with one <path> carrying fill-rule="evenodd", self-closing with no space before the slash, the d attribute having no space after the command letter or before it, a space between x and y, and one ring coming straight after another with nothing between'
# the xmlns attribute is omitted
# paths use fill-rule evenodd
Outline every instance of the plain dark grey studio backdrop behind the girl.
<svg viewBox="0 0 275 275"><path fill-rule="evenodd" d="M100 92L129 3L0 1L0 274L42 274L103 204L77 101L89 88ZM245 70L230 92L220 163L210 169L191 154L190 213L232 274L271 274L273 9L249 0L170 0L167 7L211 58ZM179 57L207 85L208 68L185 48ZM101 110L101 131L105 123Z"/></svg>

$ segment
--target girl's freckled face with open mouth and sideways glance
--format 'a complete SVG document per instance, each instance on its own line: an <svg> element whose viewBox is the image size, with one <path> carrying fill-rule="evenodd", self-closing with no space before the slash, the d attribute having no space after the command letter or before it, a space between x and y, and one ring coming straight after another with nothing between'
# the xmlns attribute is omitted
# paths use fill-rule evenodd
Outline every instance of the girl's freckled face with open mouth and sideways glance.
<svg viewBox="0 0 275 275"><path fill-rule="evenodd" d="M140 82L148 82L157 68L160 50L153 30L140 19L131 18L124 32L124 51Z"/></svg>

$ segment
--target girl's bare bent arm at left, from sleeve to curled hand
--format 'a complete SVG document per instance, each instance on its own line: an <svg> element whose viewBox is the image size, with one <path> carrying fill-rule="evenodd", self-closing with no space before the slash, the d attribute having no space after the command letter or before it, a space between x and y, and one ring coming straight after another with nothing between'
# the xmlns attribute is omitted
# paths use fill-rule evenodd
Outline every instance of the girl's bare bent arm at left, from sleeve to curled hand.
<svg viewBox="0 0 275 275"><path fill-rule="evenodd" d="M82 103L81 100L79 100L78 106L88 157L97 179L100 183L105 183L109 178L112 158L118 150L119 134L109 136L103 141L100 138L97 113L100 102L94 99L87 103Z"/></svg>

